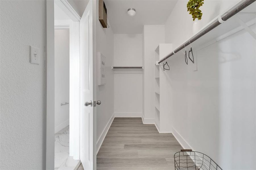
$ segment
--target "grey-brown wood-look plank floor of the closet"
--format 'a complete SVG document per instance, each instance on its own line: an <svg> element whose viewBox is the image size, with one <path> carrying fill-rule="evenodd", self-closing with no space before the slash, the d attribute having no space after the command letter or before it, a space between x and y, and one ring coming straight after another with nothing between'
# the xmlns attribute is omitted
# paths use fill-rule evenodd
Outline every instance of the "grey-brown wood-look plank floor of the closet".
<svg viewBox="0 0 256 170"><path fill-rule="evenodd" d="M97 154L97 170L174 170L182 147L141 118L115 118Z"/></svg>

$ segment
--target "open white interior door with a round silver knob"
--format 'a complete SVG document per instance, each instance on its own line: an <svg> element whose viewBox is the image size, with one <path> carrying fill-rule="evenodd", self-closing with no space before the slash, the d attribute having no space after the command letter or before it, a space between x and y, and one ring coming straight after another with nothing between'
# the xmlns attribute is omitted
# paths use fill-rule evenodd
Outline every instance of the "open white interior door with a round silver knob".
<svg viewBox="0 0 256 170"><path fill-rule="evenodd" d="M80 160L87 170L93 169L92 19L90 1L80 20Z"/></svg>

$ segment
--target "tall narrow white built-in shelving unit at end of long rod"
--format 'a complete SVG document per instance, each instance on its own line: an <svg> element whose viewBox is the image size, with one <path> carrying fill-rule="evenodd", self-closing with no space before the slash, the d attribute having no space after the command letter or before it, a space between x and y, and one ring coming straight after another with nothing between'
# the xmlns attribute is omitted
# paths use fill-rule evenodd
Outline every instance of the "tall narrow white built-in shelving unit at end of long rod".
<svg viewBox="0 0 256 170"><path fill-rule="evenodd" d="M168 100L168 90L166 78L163 71L163 64L158 61L172 50L172 44L159 44L155 50L155 126L159 133L171 133L172 125L170 124L170 105ZM160 102L161 101L161 102Z"/></svg>

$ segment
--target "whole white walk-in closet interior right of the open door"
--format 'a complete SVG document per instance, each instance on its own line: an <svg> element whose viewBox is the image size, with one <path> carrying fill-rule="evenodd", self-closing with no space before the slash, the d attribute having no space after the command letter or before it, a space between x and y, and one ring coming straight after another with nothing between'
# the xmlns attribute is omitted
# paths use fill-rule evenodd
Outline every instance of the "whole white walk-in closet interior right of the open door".
<svg viewBox="0 0 256 170"><path fill-rule="evenodd" d="M174 3L166 16L151 1L148 14L163 21L135 27L144 1L124 1L134 16L104 2L109 27L99 32L111 39L97 51L109 82L98 88L112 88L114 109L98 117L107 126L97 125L97 169L255 169L256 4L200 1L193 21L187 1L161 1Z"/></svg>

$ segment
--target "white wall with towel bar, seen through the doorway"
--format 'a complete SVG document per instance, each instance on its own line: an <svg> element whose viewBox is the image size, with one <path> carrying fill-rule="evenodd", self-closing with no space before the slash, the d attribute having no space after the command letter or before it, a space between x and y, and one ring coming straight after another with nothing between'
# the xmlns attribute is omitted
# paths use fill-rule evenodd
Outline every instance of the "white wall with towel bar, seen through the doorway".
<svg viewBox="0 0 256 170"><path fill-rule="evenodd" d="M69 125L69 29L55 29L55 133Z"/></svg>

